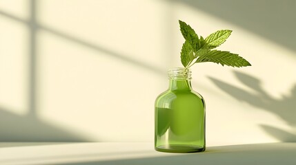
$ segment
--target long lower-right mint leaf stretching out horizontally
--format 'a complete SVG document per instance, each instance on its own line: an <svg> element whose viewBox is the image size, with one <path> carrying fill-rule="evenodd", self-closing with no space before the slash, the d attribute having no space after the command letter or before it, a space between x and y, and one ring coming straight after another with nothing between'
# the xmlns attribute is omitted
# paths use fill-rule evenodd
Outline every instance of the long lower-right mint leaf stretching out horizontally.
<svg viewBox="0 0 296 165"><path fill-rule="evenodd" d="M213 62L221 64L222 66L228 65L231 67L246 67L251 66L248 61L239 56L227 51L211 50L210 52L199 56L195 63Z"/></svg>

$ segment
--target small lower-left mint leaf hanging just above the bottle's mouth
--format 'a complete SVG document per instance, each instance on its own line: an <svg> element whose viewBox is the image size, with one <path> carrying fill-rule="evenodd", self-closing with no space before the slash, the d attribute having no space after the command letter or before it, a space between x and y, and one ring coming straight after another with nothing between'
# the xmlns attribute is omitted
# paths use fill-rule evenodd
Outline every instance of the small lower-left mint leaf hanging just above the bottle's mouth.
<svg viewBox="0 0 296 165"><path fill-rule="evenodd" d="M186 67L190 61L193 61L195 57L193 56L193 47L190 45L188 41L182 46L181 49L181 63L184 67Z"/></svg>

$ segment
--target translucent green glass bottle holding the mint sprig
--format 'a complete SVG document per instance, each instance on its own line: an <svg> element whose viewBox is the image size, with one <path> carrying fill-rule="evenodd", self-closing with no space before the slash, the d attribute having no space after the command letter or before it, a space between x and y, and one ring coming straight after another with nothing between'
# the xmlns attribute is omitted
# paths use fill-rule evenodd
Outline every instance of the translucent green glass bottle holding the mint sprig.
<svg viewBox="0 0 296 165"><path fill-rule="evenodd" d="M168 90L155 101L155 150L205 151L205 102L191 87L190 69L169 69L168 77Z"/></svg>

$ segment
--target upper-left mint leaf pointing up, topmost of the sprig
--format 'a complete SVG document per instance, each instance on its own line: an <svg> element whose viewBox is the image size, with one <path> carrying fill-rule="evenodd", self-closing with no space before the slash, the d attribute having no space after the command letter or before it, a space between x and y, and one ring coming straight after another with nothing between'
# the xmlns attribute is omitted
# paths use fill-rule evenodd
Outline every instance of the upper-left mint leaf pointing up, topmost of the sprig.
<svg viewBox="0 0 296 165"><path fill-rule="evenodd" d="M199 50L199 38L195 33L195 30L187 25L185 22L179 20L181 34L183 35L184 39L191 45L193 48L193 52L197 52Z"/></svg>

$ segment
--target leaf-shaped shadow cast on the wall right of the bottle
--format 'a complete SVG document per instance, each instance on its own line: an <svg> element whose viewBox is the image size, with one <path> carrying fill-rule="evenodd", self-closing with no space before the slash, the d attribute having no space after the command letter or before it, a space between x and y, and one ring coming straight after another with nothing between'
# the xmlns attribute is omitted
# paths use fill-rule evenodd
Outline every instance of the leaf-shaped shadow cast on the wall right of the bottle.
<svg viewBox="0 0 296 165"><path fill-rule="evenodd" d="M286 122L286 124L292 129L296 129L296 84L290 91L289 96L282 96L282 98L277 99L273 98L264 91L262 83L258 78L237 71L235 71L234 74L241 83L256 91L256 94L240 89L239 87L235 87L234 85L230 85L229 83L213 77L209 77L209 79L226 94L241 102L246 102L253 107L273 113L284 120L284 122ZM282 142L296 142L295 133L290 133L267 124L260 124L259 126L266 131L266 133L277 138L277 140Z"/></svg>

